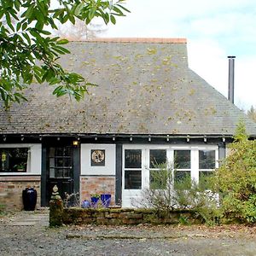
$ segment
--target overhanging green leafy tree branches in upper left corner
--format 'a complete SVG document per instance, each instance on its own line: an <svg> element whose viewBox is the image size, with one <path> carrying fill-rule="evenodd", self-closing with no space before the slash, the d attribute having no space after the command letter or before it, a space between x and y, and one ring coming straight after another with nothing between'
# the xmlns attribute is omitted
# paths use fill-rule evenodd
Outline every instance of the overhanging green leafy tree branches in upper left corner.
<svg viewBox="0 0 256 256"><path fill-rule="evenodd" d="M57 22L86 25L94 17L115 24L125 16L125 0L0 0L0 99L4 106L26 100L22 90L33 81L57 85L53 94L80 100L90 85L78 73L68 73L57 62L69 51L67 39L51 37ZM38 64L39 63L39 64Z"/></svg>

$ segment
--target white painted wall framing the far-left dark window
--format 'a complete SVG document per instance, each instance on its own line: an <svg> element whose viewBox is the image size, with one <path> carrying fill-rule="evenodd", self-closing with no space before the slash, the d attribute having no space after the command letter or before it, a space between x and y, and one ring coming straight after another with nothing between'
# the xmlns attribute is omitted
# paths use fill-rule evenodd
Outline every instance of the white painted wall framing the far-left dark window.
<svg viewBox="0 0 256 256"><path fill-rule="evenodd" d="M42 170L42 144L30 143L15 143L15 144L0 144L0 148L29 148L28 163L26 172L1 172L1 175L41 175Z"/></svg>

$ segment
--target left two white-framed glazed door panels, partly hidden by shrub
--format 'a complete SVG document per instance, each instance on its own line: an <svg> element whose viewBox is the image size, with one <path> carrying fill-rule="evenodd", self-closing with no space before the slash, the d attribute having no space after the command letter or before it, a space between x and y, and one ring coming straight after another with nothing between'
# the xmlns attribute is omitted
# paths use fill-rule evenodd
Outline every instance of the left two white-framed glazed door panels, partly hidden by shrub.
<svg viewBox="0 0 256 256"><path fill-rule="evenodd" d="M166 163L165 146L125 145L123 159L122 207L145 207L144 193L155 180L160 165Z"/></svg>

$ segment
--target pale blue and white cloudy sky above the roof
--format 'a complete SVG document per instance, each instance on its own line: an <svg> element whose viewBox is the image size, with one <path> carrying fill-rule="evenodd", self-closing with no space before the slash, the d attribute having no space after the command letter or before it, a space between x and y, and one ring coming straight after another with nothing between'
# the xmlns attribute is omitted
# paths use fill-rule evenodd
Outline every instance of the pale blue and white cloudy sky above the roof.
<svg viewBox="0 0 256 256"><path fill-rule="evenodd" d="M131 11L101 37L187 38L189 67L228 95L228 55L235 55L235 104L256 107L255 0L126 0Z"/></svg>

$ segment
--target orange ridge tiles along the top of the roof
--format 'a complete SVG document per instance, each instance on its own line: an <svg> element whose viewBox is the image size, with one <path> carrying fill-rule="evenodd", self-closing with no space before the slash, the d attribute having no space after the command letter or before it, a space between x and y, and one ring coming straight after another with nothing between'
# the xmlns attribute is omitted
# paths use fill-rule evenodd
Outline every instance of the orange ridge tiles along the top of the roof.
<svg viewBox="0 0 256 256"><path fill-rule="evenodd" d="M187 38L91 38L71 42L186 44Z"/></svg>

